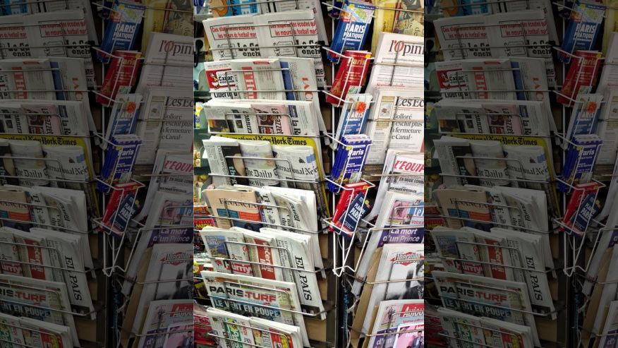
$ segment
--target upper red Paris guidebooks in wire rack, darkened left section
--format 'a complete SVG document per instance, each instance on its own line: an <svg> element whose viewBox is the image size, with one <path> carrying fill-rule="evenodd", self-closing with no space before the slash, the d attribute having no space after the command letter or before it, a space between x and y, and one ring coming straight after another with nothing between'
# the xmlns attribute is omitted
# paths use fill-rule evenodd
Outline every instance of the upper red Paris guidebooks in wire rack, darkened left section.
<svg viewBox="0 0 618 348"><path fill-rule="evenodd" d="M113 104L112 100L116 98L119 88L123 86L133 87L137 83L137 75L140 70L140 58L142 56L140 52L114 51L113 54L114 57L107 68L101 87L101 94L105 97L97 95L97 102L105 105Z"/></svg>

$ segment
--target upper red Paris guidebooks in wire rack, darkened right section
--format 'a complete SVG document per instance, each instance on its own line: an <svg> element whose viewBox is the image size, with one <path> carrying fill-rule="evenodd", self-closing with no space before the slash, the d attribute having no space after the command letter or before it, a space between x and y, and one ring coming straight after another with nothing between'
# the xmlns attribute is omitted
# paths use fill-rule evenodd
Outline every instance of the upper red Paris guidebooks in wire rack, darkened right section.
<svg viewBox="0 0 618 348"><path fill-rule="evenodd" d="M576 51L571 60L569 72L564 78L562 90L556 101L570 107L581 88L596 84L599 68L602 64L602 53L596 51ZM571 99L569 99L571 98Z"/></svg>

